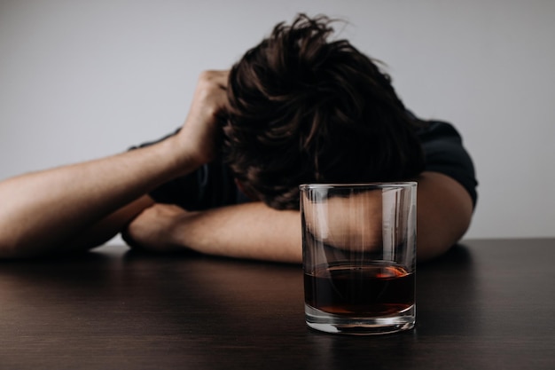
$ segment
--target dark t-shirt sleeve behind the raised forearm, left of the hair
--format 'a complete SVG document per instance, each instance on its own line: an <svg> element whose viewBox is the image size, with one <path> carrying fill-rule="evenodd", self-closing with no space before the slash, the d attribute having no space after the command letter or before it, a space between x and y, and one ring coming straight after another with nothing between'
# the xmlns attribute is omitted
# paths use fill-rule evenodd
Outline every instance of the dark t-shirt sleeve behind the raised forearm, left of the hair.
<svg viewBox="0 0 555 370"><path fill-rule="evenodd" d="M175 135L133 146L130 150L152 146ZM221 161L207 163L192 173L176 177L149 193L159 203L176 204L188 210L211 209L237 202L237 186L229 169Z"/></svg>

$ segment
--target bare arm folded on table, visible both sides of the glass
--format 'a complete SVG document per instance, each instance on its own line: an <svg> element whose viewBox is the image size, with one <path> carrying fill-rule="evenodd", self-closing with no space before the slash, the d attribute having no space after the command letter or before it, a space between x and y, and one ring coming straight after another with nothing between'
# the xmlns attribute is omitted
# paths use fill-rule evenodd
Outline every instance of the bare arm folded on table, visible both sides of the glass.
<svg viewBox="0 0 555 370"><path fill-rule="evenodd" d="M439 256L467 230L473 204L450 177L424 172L418 177L418 260ZM187 212L155 205L129 224L129 240L150 250L190 248L215 256L300 263L301 217L260 202Z"/></svg>

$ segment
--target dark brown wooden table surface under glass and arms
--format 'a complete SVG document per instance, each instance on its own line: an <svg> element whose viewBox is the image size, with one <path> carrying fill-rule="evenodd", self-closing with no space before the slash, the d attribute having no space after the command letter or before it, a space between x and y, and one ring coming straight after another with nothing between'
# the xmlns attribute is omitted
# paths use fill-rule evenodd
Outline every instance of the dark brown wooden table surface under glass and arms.
<svg viewBox="0 0 555 370"><path fill-rule="evenodd" d="M0 262L1 369L555 369L555 240L418 265L417 327L305 326L301 266L109 246Z"/></svg>

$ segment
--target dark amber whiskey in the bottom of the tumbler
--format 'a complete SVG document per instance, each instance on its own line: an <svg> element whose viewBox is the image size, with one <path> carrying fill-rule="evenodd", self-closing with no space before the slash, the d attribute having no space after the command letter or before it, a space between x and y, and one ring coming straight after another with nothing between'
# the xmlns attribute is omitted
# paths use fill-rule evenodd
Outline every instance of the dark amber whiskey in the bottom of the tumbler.
<svg viewBox="0 0 555 370"><path fill-rule="evenodd" d="M305 273L305 302L336 315L394 315L414 304L414 273L402 266L326 266Z"/></svg>

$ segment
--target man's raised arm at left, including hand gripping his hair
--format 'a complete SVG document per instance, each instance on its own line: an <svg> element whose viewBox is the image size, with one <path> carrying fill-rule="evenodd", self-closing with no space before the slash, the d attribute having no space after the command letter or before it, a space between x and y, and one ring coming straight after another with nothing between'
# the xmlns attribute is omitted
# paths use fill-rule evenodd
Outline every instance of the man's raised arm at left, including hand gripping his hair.
<svg viewBox="0 0 555 370"><path fill-rule="evenodd" d="M211 161L227 75L200 76L184 128L172 138L0 183L0 257L98 246L152 205L146 193Z"/></svg>

